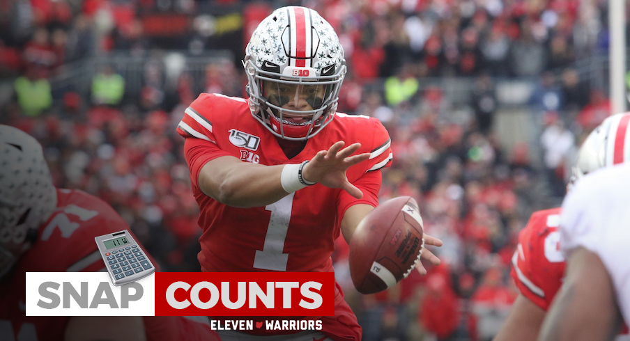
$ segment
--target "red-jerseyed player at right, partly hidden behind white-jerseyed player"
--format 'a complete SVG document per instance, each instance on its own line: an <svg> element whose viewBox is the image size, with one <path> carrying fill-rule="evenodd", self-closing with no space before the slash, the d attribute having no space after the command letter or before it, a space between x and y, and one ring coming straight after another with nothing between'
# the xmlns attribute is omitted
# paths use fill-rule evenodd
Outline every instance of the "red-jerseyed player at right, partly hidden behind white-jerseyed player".
<svg viewBox="0 0 630 341"><path fill-rule="evenodd" d="M630 147L626 147L629 121L630 113L610 116L587 136L578 152L570 187L598 168L630 160ZM561 212L560 207L534 212L518 236L518 246L512 256L512 278L520 294L495 341L536 340L539 335L564 275L565 259L559 244ZM620 338L630 340L625 334Z"/></svg>

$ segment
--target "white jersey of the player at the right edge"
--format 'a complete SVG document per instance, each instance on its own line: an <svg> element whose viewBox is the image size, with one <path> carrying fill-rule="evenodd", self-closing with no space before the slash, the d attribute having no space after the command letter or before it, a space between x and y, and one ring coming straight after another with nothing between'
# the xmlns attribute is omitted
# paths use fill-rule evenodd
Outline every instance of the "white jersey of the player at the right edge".
<svg viewBox="0 0 630 341"><path fill-rule="evenodd" d="M621 164L583 177L564 199L560 225L563 253L583 247L599 255L625 321L630 321L629 175L630 164Z"/></svg>

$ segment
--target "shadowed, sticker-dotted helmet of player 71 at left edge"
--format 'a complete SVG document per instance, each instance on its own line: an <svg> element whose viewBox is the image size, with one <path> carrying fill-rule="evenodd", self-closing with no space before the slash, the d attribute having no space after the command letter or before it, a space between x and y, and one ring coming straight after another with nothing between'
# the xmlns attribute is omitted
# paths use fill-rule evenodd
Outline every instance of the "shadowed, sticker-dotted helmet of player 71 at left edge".
<svg viewBox="0 0 630 341"><path fill-rule="evenodd" d="M36 240L57 204L42 146L22 130L0 125L0 277Z"/></svg>

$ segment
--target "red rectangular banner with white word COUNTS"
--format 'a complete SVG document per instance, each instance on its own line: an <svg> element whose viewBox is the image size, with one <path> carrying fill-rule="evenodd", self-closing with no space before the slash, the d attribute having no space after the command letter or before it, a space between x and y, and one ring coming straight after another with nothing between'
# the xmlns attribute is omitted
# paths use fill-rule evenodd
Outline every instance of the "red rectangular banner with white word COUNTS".
<svg viewBox="0 0 630 341"><path fill-rule="evenodd" d="M332 316L332 272L157 272L156 316Z"/></svg>

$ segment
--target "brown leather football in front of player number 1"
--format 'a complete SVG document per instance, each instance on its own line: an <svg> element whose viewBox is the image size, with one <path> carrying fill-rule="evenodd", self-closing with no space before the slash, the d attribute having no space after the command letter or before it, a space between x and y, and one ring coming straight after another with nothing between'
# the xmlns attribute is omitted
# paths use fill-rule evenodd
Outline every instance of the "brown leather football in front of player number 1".
<svg viewBox="0 0 630 341"><path fill-rule="evenodd" d="M358 292L374 294L406 278L422 255L423 233L420 210L409 196L372 209L350 241L350 274Z"/></svg>

